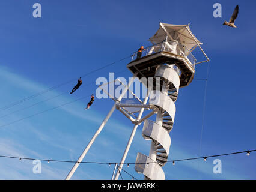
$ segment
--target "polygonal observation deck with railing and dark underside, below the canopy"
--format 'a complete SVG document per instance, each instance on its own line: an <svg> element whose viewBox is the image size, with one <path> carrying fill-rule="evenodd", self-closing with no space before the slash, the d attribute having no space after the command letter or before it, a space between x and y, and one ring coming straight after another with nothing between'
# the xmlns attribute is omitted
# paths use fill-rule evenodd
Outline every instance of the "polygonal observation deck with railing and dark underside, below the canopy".
<svg viewBox="0 0 256 192"><path fill-rule="evenodd" d="M158 44L146 47L140 58L137 53L132 55L132 61L127 64L127 68L137 77L154 77L156 67L162 64L174 64L178 68L180 76L180 87L189 85L194 78L195 63L197 59L187 49L185 44L176 41L162 41Z"/></svg>

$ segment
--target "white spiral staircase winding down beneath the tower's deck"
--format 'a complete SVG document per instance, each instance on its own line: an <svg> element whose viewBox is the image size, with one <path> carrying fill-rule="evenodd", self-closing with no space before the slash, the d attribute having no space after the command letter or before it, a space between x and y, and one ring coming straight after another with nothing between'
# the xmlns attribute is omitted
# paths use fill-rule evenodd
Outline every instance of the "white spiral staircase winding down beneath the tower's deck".
<svg viewBox="0 0 256 192"><path fill-rule="evenodd" d="M179 69L175 65L162 64L156 68L154 77L160 77L160 90L151 91L149 103L159 108L156 122L145 120L142 136L152 140L150 157L138 153L135 170L145 175L145 179L163 180L162 167L168 161L172 130L175 118L175 101L180 88ZM153 155L152 155L153 154ZM152 158L153 157L153 158Z"/></svg>

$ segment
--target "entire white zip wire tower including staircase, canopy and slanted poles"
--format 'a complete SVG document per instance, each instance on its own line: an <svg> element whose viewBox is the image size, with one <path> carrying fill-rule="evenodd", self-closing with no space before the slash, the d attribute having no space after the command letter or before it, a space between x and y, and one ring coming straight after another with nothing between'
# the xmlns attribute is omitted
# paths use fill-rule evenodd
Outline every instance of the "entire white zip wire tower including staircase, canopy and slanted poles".
<svg viewBox="0 0 256 192"><path fill-rule="evenodd" d="M120 110L124 116L129 118L134 126L121 162L118 166L117 164L115 165L112 179L117 180L120 176L133 137L138 125L142 122L144 122L142 136L146 140L151 140L151 147L149 155L138 152L135 170L144 174L145 179L165 179L162 167L168 161L169 148L171 146L169 133L174 124L175 101L178 97L178 91L192 82L195 74L195 65L209 62L210 60L200 46L202 43L192 34L189 25L172 25L160 22L159 29L149 41L152 45L145 48L141 53L133 53L132 61L127 64L127 68L133 74L127 85L120 79L100 85L103 92L115 101L114 106L78 158L72 170L70 170L66 179L71 178L115 109ZM197 59L192 54L197 47L206 58L200 62L197 62ZM138 78L142 85L147 88L144 100L141 100L129 89L135 78ZM112 84L117 85L117 82L123 85L122 92L118 98L113 93L108 92L105 87ZM121 103L127 91L136 98L137 103ZM147 115L142 117L144 111L147 111ZM148 119L154 115L156 116L155 121Z"/></svg>

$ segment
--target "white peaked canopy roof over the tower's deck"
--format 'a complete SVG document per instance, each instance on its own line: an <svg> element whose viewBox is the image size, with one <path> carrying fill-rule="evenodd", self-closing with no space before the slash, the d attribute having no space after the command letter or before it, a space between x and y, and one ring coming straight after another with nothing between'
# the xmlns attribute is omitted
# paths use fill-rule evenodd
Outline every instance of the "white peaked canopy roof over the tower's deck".
<svg viewBox="0 0 256 192"><path fill-rule="evenodd" d="M189 50L197 46L197 44L202 44L195 35L192 34L189 25L172 25L161 22L156 34L149 40L151 43L156 44L166 40L166 36L168 36L168 41L176 40L178 43L184 43Z"/></svg>

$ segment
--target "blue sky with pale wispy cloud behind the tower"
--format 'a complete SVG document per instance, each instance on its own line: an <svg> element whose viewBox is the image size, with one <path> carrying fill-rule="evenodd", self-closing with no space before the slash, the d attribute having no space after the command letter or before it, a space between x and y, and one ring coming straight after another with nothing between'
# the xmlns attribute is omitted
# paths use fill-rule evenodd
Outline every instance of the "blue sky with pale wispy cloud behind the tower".
<svg viewBox="0 0 256 192"><path fill-rule="evenodd" d="M40 2L42 17L32 17ZM176 102L169 160L255 149L255 18L254 1L218 1L222 18L213 17L217 1L0 1L0 107L76 79L135 52L159 28L159 22L190 23L210 58L202 145L200 138L206 82L194 80L181 88ZM239 4L238 28L223 26ZM200 56L199 56L200 59ZM0 126L59 106L96 91L97 77L130 77L126 59L90 76L73 95L7 115L55 95L69 92L76 80L46 94L0 111ZM206 78L207 63L197 65L195 78ZM55 110L0 128L0 155L77 160L113 101L97 100L84 110L85 98ZM150 142L141 136L142 125L126 162L137 152L148 155ZM85 161L120 162L132 124L115 111L85 157ZM222 174L214 174L213 158L177 162L163 167L166 179L256 179L252 152L219 158ZM0 179L64 179L70 163L42 163L42 173L32 172L32 161L0 158ZM81 164L72 179L111 179L114 167ZM137 179L143 175L125 167ZM131 179L126 173L124 179Z"/></svg>

